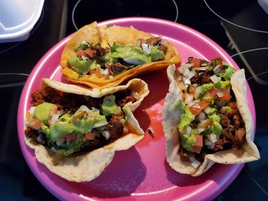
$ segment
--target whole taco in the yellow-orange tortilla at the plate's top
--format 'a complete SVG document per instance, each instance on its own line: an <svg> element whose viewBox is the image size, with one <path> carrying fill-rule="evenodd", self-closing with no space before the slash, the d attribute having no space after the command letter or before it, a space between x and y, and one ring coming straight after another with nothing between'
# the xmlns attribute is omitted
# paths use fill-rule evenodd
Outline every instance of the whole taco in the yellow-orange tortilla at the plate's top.
<svg viewBox="0 0 268 201"><path fill-rule="evenodd" d="M67 80L103 89L180 61L175 47L161 37L94 22L67 42L60 65Z"/></svg>

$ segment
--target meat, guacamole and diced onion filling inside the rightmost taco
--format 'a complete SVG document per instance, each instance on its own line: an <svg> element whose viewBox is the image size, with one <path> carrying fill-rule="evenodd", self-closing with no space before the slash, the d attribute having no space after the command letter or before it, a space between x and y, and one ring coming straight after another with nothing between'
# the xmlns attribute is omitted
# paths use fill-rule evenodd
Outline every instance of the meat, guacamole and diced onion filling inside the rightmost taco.
<svg viewBox="0 0 268 201"><path fill-rule="evenodd" d="M206 154L228 149L240 152L246 130L230 84L236 70L221 58L188 60L176 70L183 96L178 103L179 152L196 168Z"/></svg>

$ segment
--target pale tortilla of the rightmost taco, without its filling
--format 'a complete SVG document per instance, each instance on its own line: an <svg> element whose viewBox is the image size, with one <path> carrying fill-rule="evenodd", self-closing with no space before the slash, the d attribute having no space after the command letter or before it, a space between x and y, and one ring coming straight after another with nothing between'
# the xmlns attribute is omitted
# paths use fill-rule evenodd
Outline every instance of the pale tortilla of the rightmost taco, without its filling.
<svg viewBox="0 0 268 201"><path fill-rule="evenodd" d="M163 130L165 133L166 160L169 165L177 172L183 174L191 174L199 176L206 172L215 162L223 164L244 163L260 158L258 149L253 143L254 131L253 121L249 108L247 107L246 79L244 69L236 71L231 77L231 85L236 97L236 103L240 115L245 123L246 128L246 144L243 145L241 154L235 150L229 149L218 151L214 154L205 156L205 161L197 168L191 165L191 162L184 160L178 150L181 146L180 134L177 125L180 121L180 111L177 103L182 100L180 85L175 73L175 66L170 65L167 68L167 76L169 79L169 92L165 97L163 109Z"/></svg>

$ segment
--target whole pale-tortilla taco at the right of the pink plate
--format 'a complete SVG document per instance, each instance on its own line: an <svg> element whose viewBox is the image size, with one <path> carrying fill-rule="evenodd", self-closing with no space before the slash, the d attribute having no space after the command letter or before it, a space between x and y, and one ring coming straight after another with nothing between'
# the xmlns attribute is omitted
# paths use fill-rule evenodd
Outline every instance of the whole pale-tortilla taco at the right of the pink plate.
<svg viewBox="0 0 268 201"><path fill-rule="evenodd" d="M199 176L215 162L259 159L247 106L244 69L221 58L189 58L167 68L170 82L163 109L166 160L177 172Z"/></svg>

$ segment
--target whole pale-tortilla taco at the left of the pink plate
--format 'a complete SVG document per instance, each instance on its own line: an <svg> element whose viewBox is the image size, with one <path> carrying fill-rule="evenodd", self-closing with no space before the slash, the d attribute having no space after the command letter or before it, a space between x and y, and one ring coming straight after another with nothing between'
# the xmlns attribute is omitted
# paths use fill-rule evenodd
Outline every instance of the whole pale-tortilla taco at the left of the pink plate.
<svg viewBox="0 0 268 201"><path fill-rule="evenodd" d="M141 79L100 91L43 78L41 88L31 94L25 142L55 174L90 181L111 163L115 151L143 138L131 111L148 93Z"/></svg>

